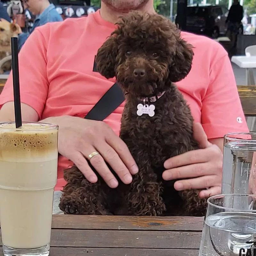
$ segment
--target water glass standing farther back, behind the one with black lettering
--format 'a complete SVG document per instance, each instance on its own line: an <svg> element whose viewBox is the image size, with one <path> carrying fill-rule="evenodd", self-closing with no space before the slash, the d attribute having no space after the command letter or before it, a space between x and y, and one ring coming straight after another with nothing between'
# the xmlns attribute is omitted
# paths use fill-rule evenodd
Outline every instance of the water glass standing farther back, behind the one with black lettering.
<svg viewBox="0 0 256 256"><path fill-rule="evenodd" d="M256 132L224 136L221 194L255 194Z"/></svg>

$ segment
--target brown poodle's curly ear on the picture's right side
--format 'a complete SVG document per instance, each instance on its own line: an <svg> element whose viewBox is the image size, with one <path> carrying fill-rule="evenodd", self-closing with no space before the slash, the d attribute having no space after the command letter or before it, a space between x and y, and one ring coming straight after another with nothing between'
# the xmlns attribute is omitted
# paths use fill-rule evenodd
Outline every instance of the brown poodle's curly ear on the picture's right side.
<svg viewBox="0 0 256 256"><path fill-rule="evenodd" d="M169 79L173 83L179 82L188 75L194 57L192 48L192 45L178 39L176 51L169 66Z"/></svg>

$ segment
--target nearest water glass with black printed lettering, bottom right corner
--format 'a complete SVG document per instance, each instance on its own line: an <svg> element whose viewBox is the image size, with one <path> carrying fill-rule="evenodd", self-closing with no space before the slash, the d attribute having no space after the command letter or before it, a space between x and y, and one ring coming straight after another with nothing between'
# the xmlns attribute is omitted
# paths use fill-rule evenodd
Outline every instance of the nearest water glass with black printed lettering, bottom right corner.
<svg viewBox="0 0 256 256"><path fill-rule="evenodd" d="M254 195L209 197L199 256L256 255L255 201Z"/></svg>

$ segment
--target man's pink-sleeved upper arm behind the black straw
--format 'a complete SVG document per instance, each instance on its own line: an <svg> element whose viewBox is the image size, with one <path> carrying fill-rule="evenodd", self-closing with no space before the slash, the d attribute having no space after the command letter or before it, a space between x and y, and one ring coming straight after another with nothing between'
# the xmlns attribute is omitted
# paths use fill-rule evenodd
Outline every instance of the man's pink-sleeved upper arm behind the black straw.
<svg viewBox="0 0 256 256"><path fill-rule="evenodd" d="M48 95L49 81L47 77L47 34L49 29L35 30L22 47L19 53L20 73L20 100L27 106L22 111L23 121L37 121L41 119L45 102ZM48 33L47 33L48 32ZM1 120L12 120L14 118L13 107L13 81L12 71L8 77L4 89L0 94ZM30 116L28 106L36 111Z"/></svg>

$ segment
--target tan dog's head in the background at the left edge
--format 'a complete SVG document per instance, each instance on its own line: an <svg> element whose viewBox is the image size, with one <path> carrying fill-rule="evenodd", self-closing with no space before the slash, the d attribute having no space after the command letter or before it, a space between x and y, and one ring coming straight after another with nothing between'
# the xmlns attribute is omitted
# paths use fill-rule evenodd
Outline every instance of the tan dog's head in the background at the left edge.
<svg viewBox="0 0 256 256"><path fill-rule="evenodd" d="M11 47L11 37L17 36L20 32L21 29L18 24L13 24L7 20L0 19L0 46Z"/></svg>

